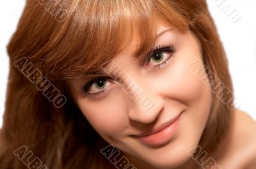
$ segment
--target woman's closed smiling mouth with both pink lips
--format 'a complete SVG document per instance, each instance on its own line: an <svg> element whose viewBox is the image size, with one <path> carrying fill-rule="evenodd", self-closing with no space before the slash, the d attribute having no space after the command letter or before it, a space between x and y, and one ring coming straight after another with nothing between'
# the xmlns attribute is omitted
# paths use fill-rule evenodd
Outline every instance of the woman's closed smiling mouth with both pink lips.
<svg viewBox="0 0 256 169"><path fill-rule="evenodd" d="M150 145L150 146L159 146L165 143L168 143L175 133L177 132L180 116L183 112L181 112L177 117L164 122L156 129L152 129L152 131L148 133L142 133L139 135L132 135L132 137L136 138L140 142Z"/></svg>

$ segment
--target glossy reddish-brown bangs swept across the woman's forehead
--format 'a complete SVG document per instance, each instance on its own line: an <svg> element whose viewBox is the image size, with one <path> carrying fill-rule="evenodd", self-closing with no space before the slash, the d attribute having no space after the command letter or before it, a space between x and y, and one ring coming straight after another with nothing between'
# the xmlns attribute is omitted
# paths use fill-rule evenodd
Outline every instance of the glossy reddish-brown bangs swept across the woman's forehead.
<svg viewBox="0 0 256 169"><path fill-rule="evenodd" d="M44 73L54 80L69 80L99 71L131 43L136 33L136 56L147 53L156 40L159 20L179 31L188 23L168 3L149 1L84 1L68 5L68 17L54 23L45 47L36 55L44 62Z"/></svg>

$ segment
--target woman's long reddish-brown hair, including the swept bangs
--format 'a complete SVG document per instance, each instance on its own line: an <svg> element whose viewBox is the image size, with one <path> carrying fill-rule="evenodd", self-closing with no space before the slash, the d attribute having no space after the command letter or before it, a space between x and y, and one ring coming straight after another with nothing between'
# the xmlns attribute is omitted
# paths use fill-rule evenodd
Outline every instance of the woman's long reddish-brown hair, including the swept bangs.
<svg viewBox="0 0 256 169"><path fill-rule="evenodd" d="M27 0L17 31L8 44L10 74L0 168L27 167L13 155L22 145L48 168L106 168L109 161L100 149L108 143L72 101L68 80L94 71L111 59L129 43L131 37L127 34L134 28L141 41L138 55L147 52L156 38L159 18L177 31L190 29L195 33L207 71L213 72L231 91L222 91L221 96L231 96L227 59L204 0ZM62 107L55 107L15 67L13 63L22 57L66 96ZM220 98L214 94L212 98L211 115L200 140L208 152L225 135L231 112Z"/></svg>

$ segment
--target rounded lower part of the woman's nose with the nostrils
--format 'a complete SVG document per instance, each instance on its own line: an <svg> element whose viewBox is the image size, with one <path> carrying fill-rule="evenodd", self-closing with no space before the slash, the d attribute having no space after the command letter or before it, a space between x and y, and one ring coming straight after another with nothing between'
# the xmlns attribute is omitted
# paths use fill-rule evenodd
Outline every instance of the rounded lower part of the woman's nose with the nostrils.
<svg viewBox="0 0 256 169"><path fill-rule="evenodd" d="M132 94L132 99L133 103L128 110L129 119L132 121L149 124L163 111L164 99L157 93L149 96L145 92L136 91Z"/></svg>

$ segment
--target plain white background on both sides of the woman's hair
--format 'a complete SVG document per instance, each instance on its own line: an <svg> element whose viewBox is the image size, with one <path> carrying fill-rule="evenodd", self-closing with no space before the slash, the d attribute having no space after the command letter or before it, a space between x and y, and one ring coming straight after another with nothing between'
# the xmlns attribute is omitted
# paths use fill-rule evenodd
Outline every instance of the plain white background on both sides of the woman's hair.
<svg viewBox="0 0 256 169"><path fill-rule="evenodd" d="M256 119L256 2L207 0L207 3L227 52L237 105ZM16 29L24 5L24 0L0 2L0 127L9 69L6 45ZM230 10L225 13L228 8ZM234 23L239 16L241 18Z"/></svg>

